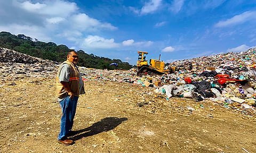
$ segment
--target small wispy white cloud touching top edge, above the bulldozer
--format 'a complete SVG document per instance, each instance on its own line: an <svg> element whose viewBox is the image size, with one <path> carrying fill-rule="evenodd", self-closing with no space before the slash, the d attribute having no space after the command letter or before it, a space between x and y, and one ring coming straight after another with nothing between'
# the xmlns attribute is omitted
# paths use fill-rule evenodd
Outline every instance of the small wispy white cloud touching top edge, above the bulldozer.
<svg viewBox="0 0 256 153"><path fill-rule="evenodd" d="M150 0L145 3L145 5L141 8L141 14L148 14L155 12L158 7L161 5L162 0Z"/></svg>

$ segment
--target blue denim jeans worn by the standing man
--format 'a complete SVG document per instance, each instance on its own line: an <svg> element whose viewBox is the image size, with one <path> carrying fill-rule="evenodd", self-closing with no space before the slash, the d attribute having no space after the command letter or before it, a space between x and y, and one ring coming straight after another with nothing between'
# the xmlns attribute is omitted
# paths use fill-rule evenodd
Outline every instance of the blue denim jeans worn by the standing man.
<svg viewBox="0 0 256 153"><path fill-rule="evenodd" d="M77 96L74 96L73 99L67 96L59 102L62 109L62 117L60 122L60 134L58 140L66 140L68 132L72 129L74 123L73 120L76 114L77 100Z"/></svg>

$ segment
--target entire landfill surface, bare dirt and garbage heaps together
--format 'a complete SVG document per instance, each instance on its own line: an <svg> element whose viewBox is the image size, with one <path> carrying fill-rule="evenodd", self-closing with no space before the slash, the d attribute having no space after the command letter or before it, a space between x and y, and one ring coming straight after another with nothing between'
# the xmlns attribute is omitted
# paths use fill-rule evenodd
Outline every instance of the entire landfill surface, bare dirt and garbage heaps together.
<svg viewBox="0 0 256 153"><path fill-rule="evenodd" d="M141 77L79 67L80 134L62 148L60 63L0 48L0 152L255 152L255 55L252 48L175 61L173 74Z"/></svg>

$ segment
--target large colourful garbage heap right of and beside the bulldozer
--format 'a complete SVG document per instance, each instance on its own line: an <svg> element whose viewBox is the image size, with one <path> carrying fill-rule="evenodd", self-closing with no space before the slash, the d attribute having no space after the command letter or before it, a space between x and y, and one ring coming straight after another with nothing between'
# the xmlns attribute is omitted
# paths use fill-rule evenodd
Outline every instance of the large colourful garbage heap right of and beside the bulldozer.
<svg viewBox="0 0 256 153"><path fill-rule="evenodd" d="M144 76L147 87L157 94L186 97L195 101L209 99L227 108L255 111L256 48L241 53L226 53L176 61L176 73L161 77Z"/></svg>

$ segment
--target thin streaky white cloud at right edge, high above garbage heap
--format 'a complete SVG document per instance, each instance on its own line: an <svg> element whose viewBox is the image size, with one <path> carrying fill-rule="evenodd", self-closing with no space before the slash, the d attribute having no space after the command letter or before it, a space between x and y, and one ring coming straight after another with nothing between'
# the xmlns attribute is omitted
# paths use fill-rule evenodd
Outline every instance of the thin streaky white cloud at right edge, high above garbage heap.
<svg viewBox="0 0 256 153"><path fill-rule="evenodd" d="M228 27L232 25L242 24L249 20L256 19L256 11L247 11L239 15L233 16L233 18L227 19L226 21L219 21L215 24L215 27L222 28Z"/></svg>

